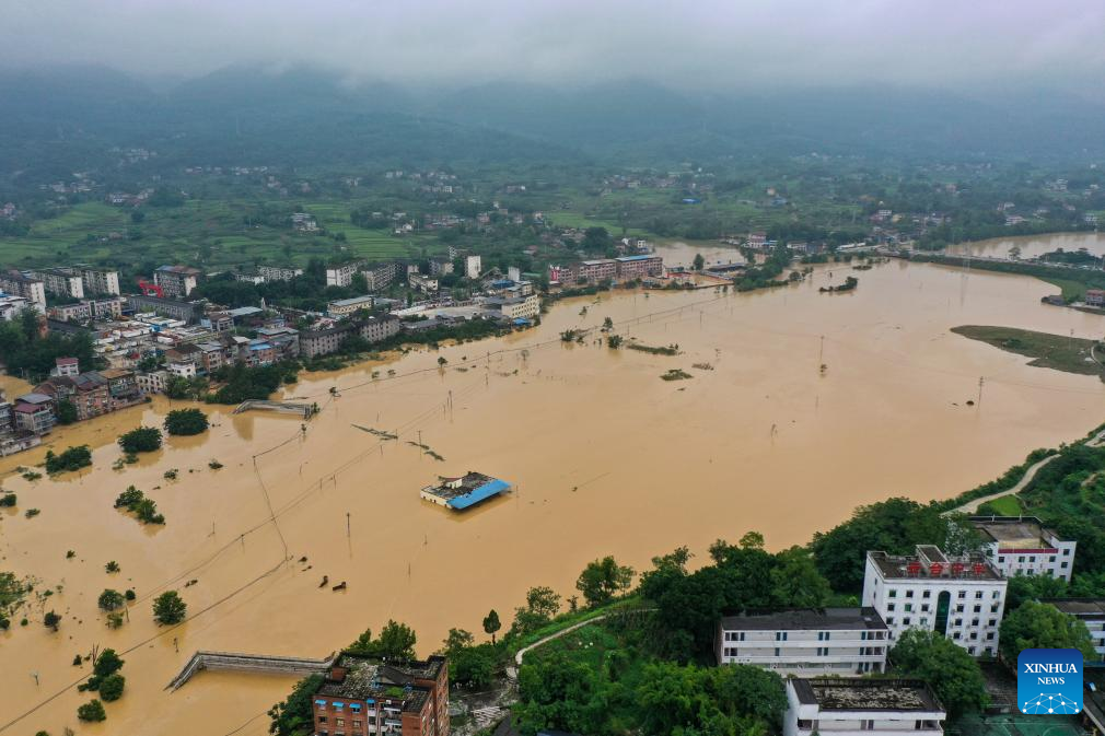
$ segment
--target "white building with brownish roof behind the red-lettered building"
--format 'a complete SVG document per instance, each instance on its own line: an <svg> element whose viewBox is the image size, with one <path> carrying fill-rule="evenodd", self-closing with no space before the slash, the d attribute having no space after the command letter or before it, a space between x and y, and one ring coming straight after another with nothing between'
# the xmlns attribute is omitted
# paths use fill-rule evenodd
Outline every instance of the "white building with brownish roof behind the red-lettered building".
<svg viewBox="0 0 1105 736"><path fill-rule="evenodd" d="M971 516L982 550L1007 578L1046 575L1071 581L1077 542L1063 539L1034 516Z"/></svg>

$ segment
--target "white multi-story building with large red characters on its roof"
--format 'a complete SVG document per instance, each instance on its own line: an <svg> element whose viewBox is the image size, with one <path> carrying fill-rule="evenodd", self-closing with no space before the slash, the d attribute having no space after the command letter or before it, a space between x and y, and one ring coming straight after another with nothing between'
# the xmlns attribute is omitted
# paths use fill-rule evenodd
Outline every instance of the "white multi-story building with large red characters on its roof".
<svg viewBox="0 0 1105 736"><path fill-rule="evenodd" d="M893 642L907 629L936 631L975 656L998 653L1006 578L982 554L948 557L934 545L916 555L869 551L863 606L878 611Z"/></svg>

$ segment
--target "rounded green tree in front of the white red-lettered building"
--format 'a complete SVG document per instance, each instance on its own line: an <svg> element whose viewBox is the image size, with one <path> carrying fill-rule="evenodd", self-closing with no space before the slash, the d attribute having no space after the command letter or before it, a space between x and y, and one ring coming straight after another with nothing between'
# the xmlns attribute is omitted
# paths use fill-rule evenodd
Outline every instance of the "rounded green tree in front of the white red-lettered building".
<svg viewBox="0 0 1105 736"><path fill-rule="evenodd" d="M908 629L890 652L894 672L924 680L951 718L986 707L986 679L978 661L950 639L934 631Z"/></svg>

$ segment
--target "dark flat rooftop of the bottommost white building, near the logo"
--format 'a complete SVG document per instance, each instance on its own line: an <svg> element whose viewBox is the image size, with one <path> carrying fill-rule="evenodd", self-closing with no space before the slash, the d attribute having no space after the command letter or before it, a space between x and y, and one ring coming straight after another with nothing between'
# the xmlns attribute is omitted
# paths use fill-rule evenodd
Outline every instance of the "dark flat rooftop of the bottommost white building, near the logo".
<svg viewBox="0 0 1105 736"><path fill-rule="evenodd" d="M791 680L804 705L822 711L944 711L920 680Z"/></svg>

